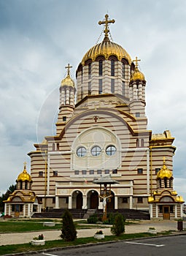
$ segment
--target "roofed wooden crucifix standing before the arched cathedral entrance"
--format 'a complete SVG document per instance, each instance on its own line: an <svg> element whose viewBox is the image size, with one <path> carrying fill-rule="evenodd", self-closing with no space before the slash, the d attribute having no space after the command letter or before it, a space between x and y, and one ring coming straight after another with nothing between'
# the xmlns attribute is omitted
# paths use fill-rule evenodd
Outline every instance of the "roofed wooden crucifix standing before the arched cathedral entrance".
<svg viewBox="0 0 186 256"><path fill-rule="evenodd" d="M93 181L94 184L99 184L100 185L100 192L98 197L101 199L103 202L103 218L102 220L106 220L106 203L108 203L111 200L111 184L118 184L118 181L115 181L111 178L111 176L104 176L101 178L98 178L97 180ZM109 186L107 186L109 185Z"/></svg>

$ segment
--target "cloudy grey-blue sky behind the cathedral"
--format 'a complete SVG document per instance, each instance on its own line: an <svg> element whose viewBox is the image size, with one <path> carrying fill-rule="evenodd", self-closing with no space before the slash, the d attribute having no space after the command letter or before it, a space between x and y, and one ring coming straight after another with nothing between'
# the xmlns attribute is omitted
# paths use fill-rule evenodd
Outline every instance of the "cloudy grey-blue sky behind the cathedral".
<svg viewBox="0 0 186 256"><path fill-rule="evenodd" d="M186 1L0 0L0 193L15 184L28 152L55 135L59 86L98 41L99 20L147 80L148 129L175 138L174 189L186 200ZM1 194L0 194L1 195Z"/></svg>

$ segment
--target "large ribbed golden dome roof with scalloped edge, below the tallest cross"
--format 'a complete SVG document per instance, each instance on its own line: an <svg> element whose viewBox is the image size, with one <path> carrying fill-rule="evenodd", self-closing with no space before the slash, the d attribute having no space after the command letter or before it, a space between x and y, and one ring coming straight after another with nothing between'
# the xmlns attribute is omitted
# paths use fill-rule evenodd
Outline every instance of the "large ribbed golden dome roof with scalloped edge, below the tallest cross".
<svg viewBox="0 0 186 256"><path fill-rule="evenodd" d="M81 64L84 65L85 61L92 59L96 61L98 56L104 56L105 59L109 59L109 56L116 56L119 61L123 58L128 60L128 63L131 64L131 56L126 52L126 50L117 45L115 42L111 42L108 37L105 37L101 43L94 45L85 56L82 58Z"/></svg>

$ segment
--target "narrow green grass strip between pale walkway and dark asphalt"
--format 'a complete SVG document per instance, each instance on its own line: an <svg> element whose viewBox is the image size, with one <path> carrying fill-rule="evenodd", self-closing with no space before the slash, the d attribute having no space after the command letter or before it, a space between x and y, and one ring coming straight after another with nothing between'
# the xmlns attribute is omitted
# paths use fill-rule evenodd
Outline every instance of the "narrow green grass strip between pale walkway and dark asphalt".
<svg viewBox="0 0 186 256"><path fill-rule="evenodd" d="M170 232L160 233L162 234L170 234ZM75 241L66 242L63 240L55 240L55 241L46 241L44 246L33 246L31 244L13 244L13 245L4 245L0 246L0 255L12 255L14 253L19 252L33 252L45 249L53 249L53 248L63 248L66 246L77 246L82 244L96 244L105 241L120 241L126 239L133 239L133 238L147 238L152 237L150 233L135 233L135 234L123 234L122 236L105 236L103 240L96 240L93 237L89 238L77 238Z"/></svg>

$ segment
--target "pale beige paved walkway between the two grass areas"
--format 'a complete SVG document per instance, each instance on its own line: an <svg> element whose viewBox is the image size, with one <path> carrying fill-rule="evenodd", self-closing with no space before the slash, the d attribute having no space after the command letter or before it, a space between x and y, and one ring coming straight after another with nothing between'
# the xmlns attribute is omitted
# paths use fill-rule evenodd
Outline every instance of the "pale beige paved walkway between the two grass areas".
<svg viewBox="0 0 186 256"><path fill-rule="evenodd" d="M186 227L186 222L183 226ZM140 221L136 222L135 225L126 225L125 233L143 233L147 232L149 227L155 227L158 232L168 230L177 231L177 221ZM93 236L97 230L98 228L77 230L77 237ZM104 234L106 236L112 235L110 232L110 227L102 228L102 230L104 230ZM44 230L26 233L0 233L0 246L6 244L26 244L29 243L32 238L39 236L41 233L44 235L44 239L46 241L57 240L60 239L61 230Z"/></svg>

